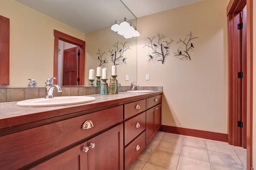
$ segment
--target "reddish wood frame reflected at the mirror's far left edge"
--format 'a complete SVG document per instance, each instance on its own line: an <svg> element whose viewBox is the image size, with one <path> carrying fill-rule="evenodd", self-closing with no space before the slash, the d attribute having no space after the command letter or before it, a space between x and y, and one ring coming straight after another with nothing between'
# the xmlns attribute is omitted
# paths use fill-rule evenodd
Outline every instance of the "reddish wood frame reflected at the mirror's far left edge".
<svg viewBox="0 0 256 170"><path fill-rule="evenodd" d="M10 19L0 15L0 85L10 85Z"/></svg>

